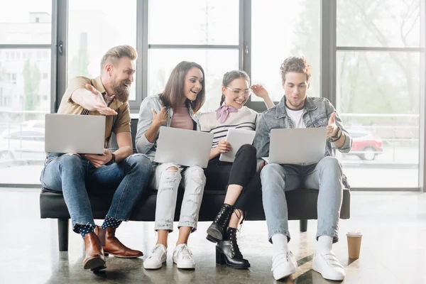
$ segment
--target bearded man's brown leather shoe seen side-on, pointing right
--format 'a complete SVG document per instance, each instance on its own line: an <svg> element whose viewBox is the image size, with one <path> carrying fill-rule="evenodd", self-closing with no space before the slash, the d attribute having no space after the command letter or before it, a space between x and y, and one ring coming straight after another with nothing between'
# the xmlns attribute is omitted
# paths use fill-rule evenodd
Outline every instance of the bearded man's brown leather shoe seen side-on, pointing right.
<svg viewBox="0 0 426 284"><path fill-rule="evenodd" d="M142 251L129 249L124 244L121 244L121 241L115 236L115 228L108 227L107 229L101 229L97 226L94 231L99 236L105 256L108 256L108 254L119 258L138 258L143 256Z"/></svg>

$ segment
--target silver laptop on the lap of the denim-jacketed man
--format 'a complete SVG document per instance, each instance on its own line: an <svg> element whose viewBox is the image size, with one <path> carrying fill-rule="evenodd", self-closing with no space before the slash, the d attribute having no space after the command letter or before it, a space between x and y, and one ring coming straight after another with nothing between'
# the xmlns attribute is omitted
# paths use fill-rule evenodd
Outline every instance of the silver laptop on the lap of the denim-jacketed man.
<svg viewBox="0 0 426 284"><path fill-rule="evenodd" d="M324 158L327 128L272 129L268 163L318 163Z"/></svg>

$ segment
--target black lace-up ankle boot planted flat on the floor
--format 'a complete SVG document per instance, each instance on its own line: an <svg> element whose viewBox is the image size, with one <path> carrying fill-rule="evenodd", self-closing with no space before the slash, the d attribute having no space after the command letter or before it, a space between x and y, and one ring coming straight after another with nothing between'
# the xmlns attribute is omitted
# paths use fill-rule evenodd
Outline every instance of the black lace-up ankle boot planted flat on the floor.
<svg viewBox="0 0 426 284"><path fill-rule="evenodd" d="M250 267L248 260L243 258L236 243L236 229L228 228L223 241L216 245L216 263L226 264L234 269L247 269Z"/></svg>

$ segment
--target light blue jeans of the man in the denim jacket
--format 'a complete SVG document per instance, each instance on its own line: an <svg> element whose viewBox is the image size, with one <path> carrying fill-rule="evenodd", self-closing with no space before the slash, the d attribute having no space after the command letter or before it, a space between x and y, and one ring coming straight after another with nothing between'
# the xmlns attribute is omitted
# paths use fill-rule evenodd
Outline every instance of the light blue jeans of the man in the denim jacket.
<svg viewBox="0 0 426 284"><path fill-rule="evenodd" d="M285 192L301 186L320 190L317 239L319 236L332 236L333 242L339 240L343 186L342 166L337 158L324 157L314 165L268 164L261 171L261 180L269 241L274 234L284 234L290 241Z"/></svg>

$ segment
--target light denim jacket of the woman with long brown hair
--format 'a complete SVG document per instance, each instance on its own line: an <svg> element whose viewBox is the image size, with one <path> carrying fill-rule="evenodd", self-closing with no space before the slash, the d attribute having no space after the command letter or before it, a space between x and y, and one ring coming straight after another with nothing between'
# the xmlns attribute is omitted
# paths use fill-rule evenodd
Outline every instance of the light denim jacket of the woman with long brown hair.
<svg viewBox="0 0 426 284"><path fill-rule="evenodd" d="M194 111L192 110L192 107L189 105L189 111L190 116L192 118L192 121L194 122L194 130L197 130L197 123L198 123L198 115L194 114ZM139 120L138 120L138 131L136 132L136 149L138 150L138 153L143 153L148 155L148 158L151 159L151 161L154 160L155 157L155 151L157 149L157 140L158 140L158 133L155 136L155 141L151 143L148 141L148 139L145 136L146 131L148 131L149 126L153 123L153 111L155 110L156 113L161 111L163 108L163 103L160 100L160 96L158 94L154 96L149 96L143 99L141 103L141 108L139 109ZM173 118L173 109L171 107L167 108L166 111L168 111L168 119L163 124L163 126L170 127L170 124L172 123Z"/></svg>

